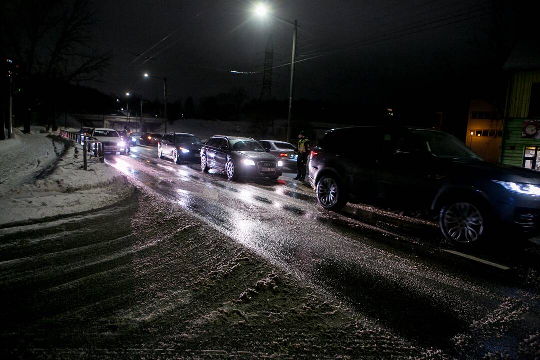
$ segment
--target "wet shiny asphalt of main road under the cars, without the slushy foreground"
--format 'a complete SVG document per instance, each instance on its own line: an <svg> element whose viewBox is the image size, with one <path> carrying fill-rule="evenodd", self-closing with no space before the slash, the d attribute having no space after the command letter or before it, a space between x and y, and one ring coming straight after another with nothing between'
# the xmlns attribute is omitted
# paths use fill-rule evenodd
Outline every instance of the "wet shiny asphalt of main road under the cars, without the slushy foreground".
<svg viewBox="0 0 540 360"><path fill-rule="evenodd" d="M452 339L468 333L471 323L504 316L497 315L501 305L522 291L538 300L540 254L530 242L505 239L465 252L493 263L488 264L452 253L456 249L433 222L362 205L340 213L323 210L312 189L292 176L232 182L224 174L202 173L197 162L157 159L157 151L148 147L108 161L139 186L426 346L453 347ZM538 303L531 314L535 311ZM527 331L540 329L540 317L525 317L527 326L516 323L509 329L502 348L517 349ZM498 341L488 340L494 329L479 331L484 330L470 347L489 342L496 350Z"/></svg>

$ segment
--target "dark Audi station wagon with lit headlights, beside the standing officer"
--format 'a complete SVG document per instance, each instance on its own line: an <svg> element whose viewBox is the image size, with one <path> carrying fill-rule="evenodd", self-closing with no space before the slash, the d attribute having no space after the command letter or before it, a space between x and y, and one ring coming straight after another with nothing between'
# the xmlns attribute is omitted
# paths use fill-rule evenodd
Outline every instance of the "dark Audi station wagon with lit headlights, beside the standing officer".
<svg viewBox="0 0 540 360"><path fill-rule="evenodd" d="M283 163L252 138L214 136L201 149L201 169L225 171L229 179L241 176L267 177L277 180Z"/></svg>

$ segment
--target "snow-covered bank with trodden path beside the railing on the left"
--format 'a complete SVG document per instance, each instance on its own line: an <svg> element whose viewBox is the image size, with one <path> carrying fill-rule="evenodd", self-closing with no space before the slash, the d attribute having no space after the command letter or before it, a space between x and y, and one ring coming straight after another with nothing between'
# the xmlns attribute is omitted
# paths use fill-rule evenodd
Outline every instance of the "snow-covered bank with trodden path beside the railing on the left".
<svg viewBox="0 0 540 360"><path fill-rule="evenodd" d="M49 136L48 136L49 135ZM0 228L102 208L129 196L125 179L106 164L82 169L82 147L50 133L0 143Z"/></svg>

